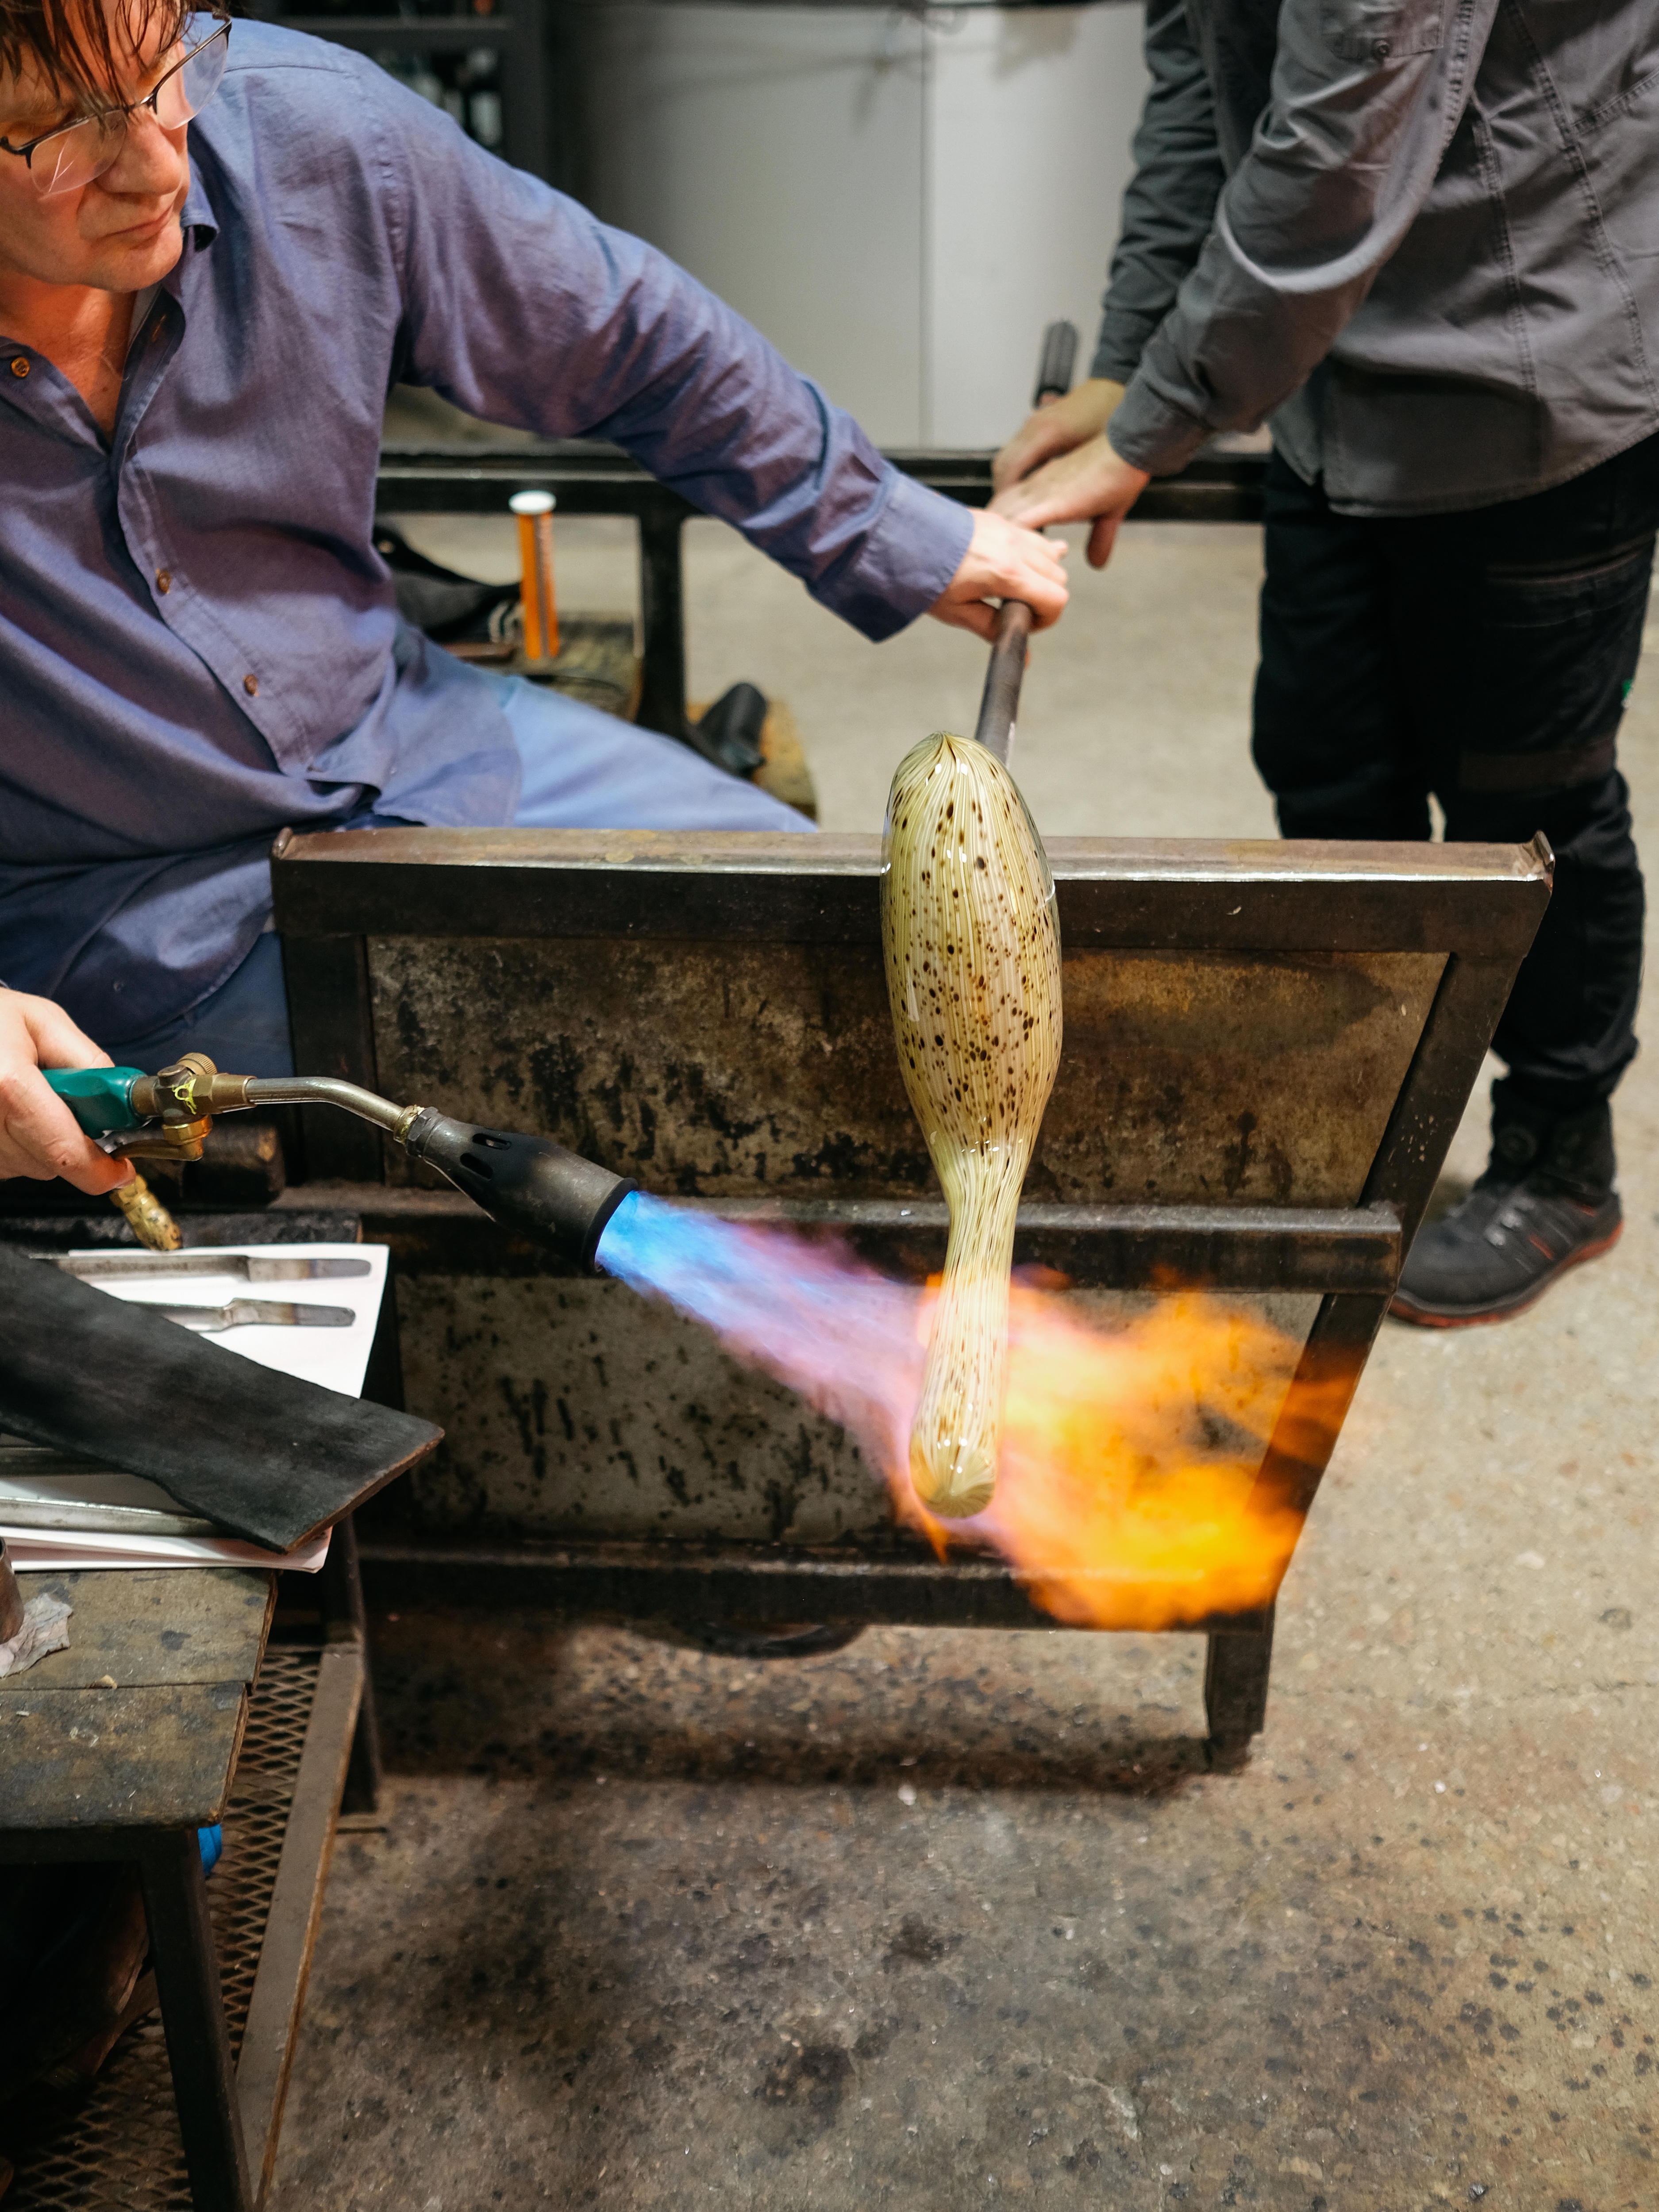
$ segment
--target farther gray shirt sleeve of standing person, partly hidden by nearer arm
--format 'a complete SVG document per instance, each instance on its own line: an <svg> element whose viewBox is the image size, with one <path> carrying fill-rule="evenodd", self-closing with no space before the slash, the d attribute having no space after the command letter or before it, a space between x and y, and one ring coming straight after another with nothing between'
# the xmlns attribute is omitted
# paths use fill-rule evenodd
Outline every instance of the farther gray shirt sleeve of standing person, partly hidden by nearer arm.
<svg viewBox="0 0 1659 2212"><path fill-rule="evenodd" d="M1146 93L1135 175L1106 279L1091 376L1126 385L1210 237L1223 168L1186 0L1146 0Z"/></svg>

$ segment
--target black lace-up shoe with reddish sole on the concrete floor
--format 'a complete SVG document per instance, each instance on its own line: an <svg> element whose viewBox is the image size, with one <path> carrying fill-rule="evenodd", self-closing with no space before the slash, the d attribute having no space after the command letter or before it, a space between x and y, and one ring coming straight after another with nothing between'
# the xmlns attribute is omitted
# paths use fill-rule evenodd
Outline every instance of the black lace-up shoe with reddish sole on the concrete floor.
<svg viewBox="0 0 1659 2212"><path fill-rule="evenodd" d="M1449 1214L1418 1232L1389 1312L1427 1329L1509 1321L1557 1276L1619 1241L1613 1113L1551 1115L1493 1084L1486 1172Z"/></svg>

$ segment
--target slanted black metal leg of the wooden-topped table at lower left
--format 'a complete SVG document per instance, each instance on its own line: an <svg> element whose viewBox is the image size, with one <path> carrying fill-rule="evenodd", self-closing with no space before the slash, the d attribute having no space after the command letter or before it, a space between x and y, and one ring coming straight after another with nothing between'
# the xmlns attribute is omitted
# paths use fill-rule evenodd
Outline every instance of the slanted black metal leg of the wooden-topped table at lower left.
<svg viewBox="0 0 1659 2212"><path fill-rule="evenodd" d="M173 2095L197 2212L254 2212L195 1829L135 1838Z"/></svg>

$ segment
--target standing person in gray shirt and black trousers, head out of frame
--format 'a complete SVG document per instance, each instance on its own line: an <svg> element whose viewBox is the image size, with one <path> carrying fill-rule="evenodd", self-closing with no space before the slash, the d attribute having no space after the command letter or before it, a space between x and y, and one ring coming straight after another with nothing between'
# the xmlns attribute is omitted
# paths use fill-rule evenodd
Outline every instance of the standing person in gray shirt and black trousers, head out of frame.
<svg viewBox="0 0 1659 2212"><path fill-rule="evenodd" d="M1500 1321L1619 1237L1644 891L1617 730L1659 526L1659 18L1148 0L1093 376L995 507L1093 520L1272 422L1254 757L1285 836L1555 849L1493 1152L1396 1314Z"/></svg>

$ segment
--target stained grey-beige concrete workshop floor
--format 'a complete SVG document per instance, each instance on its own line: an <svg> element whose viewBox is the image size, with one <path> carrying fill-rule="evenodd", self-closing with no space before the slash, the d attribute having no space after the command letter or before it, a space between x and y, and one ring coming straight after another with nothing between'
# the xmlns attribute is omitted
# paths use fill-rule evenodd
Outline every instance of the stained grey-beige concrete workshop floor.
<svg viewBox="0 0 1659 2212"><path fill-rule="evenodd" d="M626 604L613 526L560 542L566 606ZM1022 712L1044 830L1270 832L1254 575L1250 531L1144 526L1079 580ZM790 699L830 827L982 670L701 524L690 637L695 690ZM1648 818L1659 684L1626 730ZM1500 1329L1385 1329L1241 1774L1190 1637L757 1666L380 1619L385 1829L341 1838L272 2205L1655 2212L1652 1062L1619 1133L1610 1259Z"/></svg>

